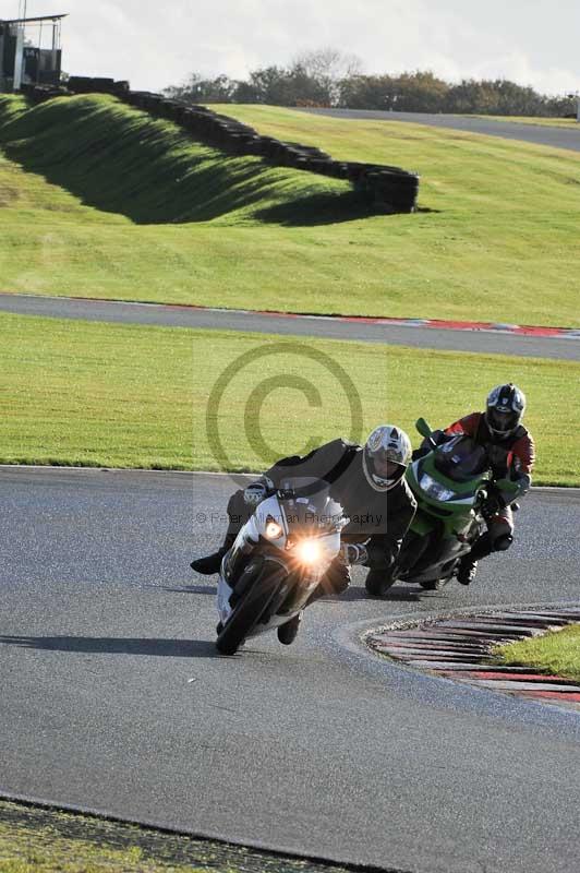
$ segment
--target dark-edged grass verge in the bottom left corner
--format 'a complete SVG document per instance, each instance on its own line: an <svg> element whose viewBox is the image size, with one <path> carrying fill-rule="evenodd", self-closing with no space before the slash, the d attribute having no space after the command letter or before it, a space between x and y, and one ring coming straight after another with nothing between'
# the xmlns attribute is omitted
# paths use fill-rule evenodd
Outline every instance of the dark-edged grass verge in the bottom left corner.
<svg viewBox="0 0 580 873"><path fill-rule="evenodd" d="M0 873L340 873L342 870L0 800Z"/></svg>

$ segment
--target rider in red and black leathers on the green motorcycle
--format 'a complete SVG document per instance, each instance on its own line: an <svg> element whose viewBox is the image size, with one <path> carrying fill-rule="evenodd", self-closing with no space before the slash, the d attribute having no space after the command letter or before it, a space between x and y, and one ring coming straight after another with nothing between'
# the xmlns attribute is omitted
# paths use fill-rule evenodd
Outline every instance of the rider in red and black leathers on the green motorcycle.
<svg viewBox="0 0 580 873"><path fill-rule="evenodd" d="M513 541L510 504L530 489L535 462L534 441L521 424L524 408L525 397L516 385L498 385L487 397L485 412L471 412L445 429L447 434L467 433L485 446L494 481L509 478L518 486L515 493L502 494L496 489L492 497L486 517L487 531L460 562L457 578L463 585L472 582L479 560L494 551L505 551Z"/></svg>

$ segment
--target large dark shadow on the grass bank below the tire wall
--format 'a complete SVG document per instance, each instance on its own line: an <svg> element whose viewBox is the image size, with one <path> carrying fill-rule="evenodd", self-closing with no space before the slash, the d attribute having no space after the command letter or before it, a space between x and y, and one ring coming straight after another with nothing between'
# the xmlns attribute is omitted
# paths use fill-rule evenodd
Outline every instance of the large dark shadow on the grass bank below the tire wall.
<svg viewBox="0 0 580 873"><path fill-rule="evenodd" d="M0 106L0 146L83 204L137 225L240 212L242 222L309 227L372 214L346 182L333 190L336 180L323 176L227 155L104 95L49 100L17 116Z"/></svg>

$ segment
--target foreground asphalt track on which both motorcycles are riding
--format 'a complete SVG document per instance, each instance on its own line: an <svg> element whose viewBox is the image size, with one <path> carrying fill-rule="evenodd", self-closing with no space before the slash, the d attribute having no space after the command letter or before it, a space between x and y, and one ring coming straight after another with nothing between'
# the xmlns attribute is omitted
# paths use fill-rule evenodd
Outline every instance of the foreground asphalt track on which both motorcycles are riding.
<svg viewBox="0 0 580 873"><path fill-rule="evenodd" d="M537 490L469 588L362 575L295 644L216 656L226 476L0 469L0 792L397 871L578 865L580 717L389 663L362 630L578 602L579 491ZM214 517L212 515L214 514Z"/></svg>

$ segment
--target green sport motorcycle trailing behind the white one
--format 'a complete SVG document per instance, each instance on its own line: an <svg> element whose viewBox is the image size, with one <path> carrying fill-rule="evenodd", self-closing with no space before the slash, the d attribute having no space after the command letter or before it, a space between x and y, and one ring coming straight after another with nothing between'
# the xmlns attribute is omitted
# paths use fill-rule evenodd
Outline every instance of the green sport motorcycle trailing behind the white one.
<svg viewBox="0 0 580 873"><path fill-rule="evenodd" d="M407 482L418 509L395 564L382 578L370 577L367 590L375 597L396 582L427 591L443 588L484 533L490 500L497 491L515 490L509 479L492 481L487 453L471 436L459 433L438 442L425 419L415 427L424 438L423 454L408 467Z"/></svg>

